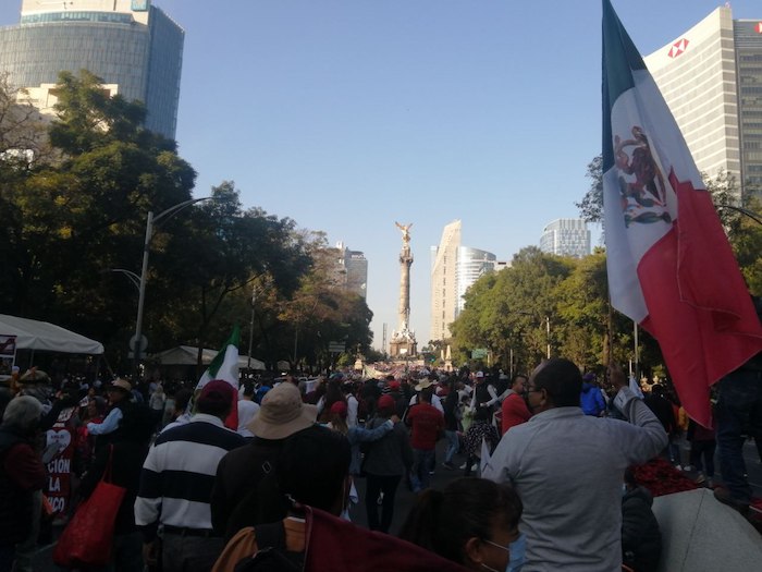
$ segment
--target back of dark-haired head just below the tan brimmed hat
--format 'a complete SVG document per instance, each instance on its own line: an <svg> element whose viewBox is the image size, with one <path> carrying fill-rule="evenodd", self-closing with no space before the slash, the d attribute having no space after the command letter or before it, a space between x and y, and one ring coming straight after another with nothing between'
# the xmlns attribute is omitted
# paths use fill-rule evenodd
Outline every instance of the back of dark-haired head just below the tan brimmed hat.
<svg viewBox="0 0 762 572"><path fill-rule="evenodd" d="M294 434L275 466L278 487L300 504L330 511L349 473L349 441L327 427Z"/></svg>

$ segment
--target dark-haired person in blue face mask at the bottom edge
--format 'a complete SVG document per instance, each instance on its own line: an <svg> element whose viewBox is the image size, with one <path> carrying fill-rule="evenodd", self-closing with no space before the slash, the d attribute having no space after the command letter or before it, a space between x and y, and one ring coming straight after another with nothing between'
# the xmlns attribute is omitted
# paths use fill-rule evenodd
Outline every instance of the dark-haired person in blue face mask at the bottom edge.
<svg viewBox="0 0 762 572"><path fill-rule="evenodd" d="M521 510L521 500L509 486L464 477L442 491L426 490L400 537L468 570L513 572L524 563Z"/></svg>

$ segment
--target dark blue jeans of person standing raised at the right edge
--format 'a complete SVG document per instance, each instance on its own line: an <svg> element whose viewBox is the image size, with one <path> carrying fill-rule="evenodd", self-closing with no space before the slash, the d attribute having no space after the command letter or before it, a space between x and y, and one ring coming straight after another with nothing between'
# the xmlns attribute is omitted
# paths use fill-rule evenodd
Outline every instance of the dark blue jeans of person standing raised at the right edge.
<svg viewBox="0 0 762 572"><path fill-rule="evenodd" d="M717 447L723 482L734 499L749 502L743 441L747 436L762 438L762 372L733 372L718 387Z"/></svg>

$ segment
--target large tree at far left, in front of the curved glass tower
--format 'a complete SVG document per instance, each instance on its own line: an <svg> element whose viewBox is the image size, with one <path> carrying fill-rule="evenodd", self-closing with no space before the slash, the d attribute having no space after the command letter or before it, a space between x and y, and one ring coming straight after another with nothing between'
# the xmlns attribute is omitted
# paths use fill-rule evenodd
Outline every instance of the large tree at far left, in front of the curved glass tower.
<svg viewBox="0 0 762 572"><path fill-rule="evenodd" d="M105 104L86 72L62 74L58 87L59 119L50 126L56 155L3 187L12 266L0 308L107 344L121 340L126 349L135 305L124 301L136 293L124 280L105 280L103 271L139 271L146 214L188 199L195 172L172 142L137 124L139 104Z"/></svg>

